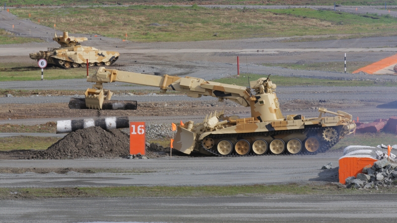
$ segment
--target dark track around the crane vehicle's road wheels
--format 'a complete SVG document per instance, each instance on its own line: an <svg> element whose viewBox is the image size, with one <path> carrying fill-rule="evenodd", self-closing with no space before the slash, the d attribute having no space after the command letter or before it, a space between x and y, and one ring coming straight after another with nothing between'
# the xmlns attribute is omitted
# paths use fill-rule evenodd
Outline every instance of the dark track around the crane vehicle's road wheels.
<svg viewBox="0 0 397 223"><path fill-rule="evenodd" d="M296 132L301 132L301 133L303 133L304 131L309 131L309 132L315 133L315 132L319 132L319 131L324 131L325 129L326 129L326 127L309 127L309 128L305 128L305 129L292 129L292 130L269 131L269 132L236 133L236 134L219 134L219 135L211 135L211 138L213 138L213 139L216 139L216 138L227 138L228 136L229 136L230 138L236 137L236 136L237 136L237 137L241 136L242 138L244 138L244 136L257 136L257 135L263 135L264 133L267 133L268 135L272 135L271 133L277 133L277 134L292 134L292 133L296 133ZM335 129L335 128L333 128L333 129ZM337 131L337 129L335 129L335 130L336 130L336 132L337 132L337 134L338 134L337 136L339 136L339 132ZM338 137L336 137L336 138L338 138ZM297 154L289 154L289 153L287 152L287 149L284 149L284 152L283 152L282 154L272 154L272 153L269 152L269 149L267 149L267 151L266 151L265 154L258 155L258 154L255 154L255 153L252 151L252 149L251 149L250 152L249 152L248 154L246 154L246 155L239 155L239 154L237 154L237 153L234 151L234 148L233 148L233 151L232 151L231 154L229 154L229 155L221 155L221 154L219 154L219 153L216 151L216 149L215 149L215 150L206 149L206 148L204 148L202 145L201 145L201 147L202 147L205 151L207 151L207 152L209 152L209 153L211 153L211 154L213 154L213 155L219 156L219 157L299 156L299 155L316 155L316 154L318 154L318 153L324 153L324 152L326 152L327 150L331 149L331 147L332 147L333 145L335 145L335 144L338 142L338 141L336 141L336 139L331 140L330 142L328 142L328 141L325 141L325 142L324 142L324 140L321 140L321 138L320 138L319 140L320 140L321 146L320 146L320 148L319 148L316 152L308 152L308 151L305 151L305 148L302 148L302 151L301 151L300 153L297 153ZM302 142L302 144L303 144L303 142ZM250 145L250 146L252 146L252 145ZM286 144L285 144L285 146L286 146ZM304 145L302 145L302 147L304 147Z"/></svg>

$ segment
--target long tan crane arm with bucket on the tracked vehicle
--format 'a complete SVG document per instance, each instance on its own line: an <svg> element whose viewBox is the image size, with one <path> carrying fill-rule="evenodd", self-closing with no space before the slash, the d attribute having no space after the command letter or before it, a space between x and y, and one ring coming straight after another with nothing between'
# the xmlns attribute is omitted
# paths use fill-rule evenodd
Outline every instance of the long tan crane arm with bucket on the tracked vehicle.
<svg viewBox="0 0 397 223"><path fill-rule="evenodd" d="M87 76L87 81L96 83L93 88L87 89L85 93L86 106L92 109L101 109L105 95L107 100L110 100L112 96L109 90L103 89L102 84L116 81L159 87L164 91L185 92L187 96L193 98L212 96L220 100L229 99L244 107L250 106L248 102L250 94L247 87L211 82L195 77L176 77L167 74L154 76L100 67L96 74Z"/></svg>

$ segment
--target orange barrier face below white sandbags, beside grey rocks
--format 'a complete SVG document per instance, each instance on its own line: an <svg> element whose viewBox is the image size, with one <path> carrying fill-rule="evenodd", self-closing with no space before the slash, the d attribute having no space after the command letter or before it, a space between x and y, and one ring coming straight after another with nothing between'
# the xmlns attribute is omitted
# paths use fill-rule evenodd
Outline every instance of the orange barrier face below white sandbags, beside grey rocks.
<svg viewBox="0 0 397 223"><path fill-rule="evenodd" d="M374 165L378 161L370 157L346 156L339 159L339 183L345 184L349 176L357 176L368 165Z"/></svg>

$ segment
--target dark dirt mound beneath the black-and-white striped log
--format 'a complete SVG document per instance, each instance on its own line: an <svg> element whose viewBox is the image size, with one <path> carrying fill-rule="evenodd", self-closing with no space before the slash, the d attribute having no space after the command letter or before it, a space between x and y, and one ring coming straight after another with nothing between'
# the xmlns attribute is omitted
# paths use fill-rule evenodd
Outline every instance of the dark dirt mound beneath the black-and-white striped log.
<svg viewBox="0 0 397 223"><path fill-rule="evenodd" d="M117 158L129 154L130 139L126 133L89 127L67 134L47 150L36 152L31 159Z"/></svg>

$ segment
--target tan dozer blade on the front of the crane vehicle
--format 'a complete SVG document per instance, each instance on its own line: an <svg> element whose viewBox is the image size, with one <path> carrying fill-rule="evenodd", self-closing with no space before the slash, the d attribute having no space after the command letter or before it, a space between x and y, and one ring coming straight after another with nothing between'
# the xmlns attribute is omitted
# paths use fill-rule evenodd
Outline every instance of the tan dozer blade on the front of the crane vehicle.
<svg viewBox="0 0 397 223"><path fill-rule="evenodd" d="M195 147L196 134L178 126L173 148L185 154L190 154Z"/></svg>

